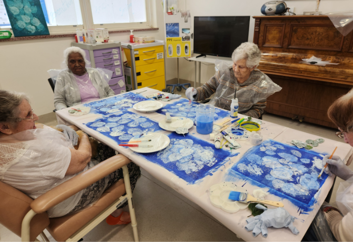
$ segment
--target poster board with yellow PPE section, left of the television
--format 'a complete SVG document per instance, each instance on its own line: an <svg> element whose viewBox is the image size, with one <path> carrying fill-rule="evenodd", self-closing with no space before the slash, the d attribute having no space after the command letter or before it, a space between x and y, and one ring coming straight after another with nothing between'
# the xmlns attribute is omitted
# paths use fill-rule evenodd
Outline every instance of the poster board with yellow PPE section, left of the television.
<svg viewBox="0 0 353 242"><path fill-rule="evenodd" d="M182 16L181 12L172 15L164 13L164 23L167 58L190 57L191 18Z"/></svg>

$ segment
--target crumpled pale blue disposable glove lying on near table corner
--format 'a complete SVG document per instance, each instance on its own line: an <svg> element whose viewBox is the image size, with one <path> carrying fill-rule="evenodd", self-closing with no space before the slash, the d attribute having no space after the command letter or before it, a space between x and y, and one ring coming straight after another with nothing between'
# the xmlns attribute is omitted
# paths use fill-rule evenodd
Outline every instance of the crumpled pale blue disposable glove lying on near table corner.
<svg viewBox="0 0 353 242"><path fill-rule="evenodd" d="M258 236L262 233L263 237L267 237L267 228L283 228L288 227L293 234L298 235L299 231L293 225L293 221L295 219L294 216L291 216L289 212L287 212L283 207L277 207L275 209L268 209L261 204L257 204L255 207L259 209L263 209L264 212L260 215L257 215L253 218L246 219L248 223L245 226L247 231L252 230L252 235L254 237Z"/></svg>

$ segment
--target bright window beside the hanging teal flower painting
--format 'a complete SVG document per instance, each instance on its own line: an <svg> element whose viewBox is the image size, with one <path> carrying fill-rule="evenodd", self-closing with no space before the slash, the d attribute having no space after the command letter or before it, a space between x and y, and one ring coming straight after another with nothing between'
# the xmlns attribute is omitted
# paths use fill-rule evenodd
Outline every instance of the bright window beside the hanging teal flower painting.
<svg viewBox="0 0 353 242"><path fill-rule="evenodd" d="M93 28L110 30L149 27L146 2L148 0L40 0L51 34L87 29L86 23L93 23ZM11 28L3 0L0 0L1 28Z"/></svg>

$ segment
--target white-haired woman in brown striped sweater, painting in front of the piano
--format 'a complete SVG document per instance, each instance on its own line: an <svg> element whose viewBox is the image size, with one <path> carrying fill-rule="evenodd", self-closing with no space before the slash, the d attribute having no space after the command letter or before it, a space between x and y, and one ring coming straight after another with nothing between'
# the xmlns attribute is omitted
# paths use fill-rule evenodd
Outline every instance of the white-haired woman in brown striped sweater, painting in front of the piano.
<svg viewBox="0 0 353 242"><path fill-rule="evenodd" d="M218 71L201 87L189 87L185 95L192 101L203 101L215 93L217 89L227 89L227 93L229 94L228 98L219 97L217 102L214 102L214 105L219 108L231 110L231 97L234 97L236 89L239 113L253 118L259 118L266 108L266 97L262 97L260 100L252 98L253 96L265 96L254 95L254 93L262 91L261 88L257 87L256 82L272 82L268 76L256 69L259 66L260 59L261 51L257 45L251 42L244 42L240 44L232 54L233 68L229 68L230 80L225 80L224 75L220 74L220 71ZM248 87L249 85L251 85L251 87ZM242 89L244 90L242 91ZM222 92L224 93L224 91Z"/></svg>

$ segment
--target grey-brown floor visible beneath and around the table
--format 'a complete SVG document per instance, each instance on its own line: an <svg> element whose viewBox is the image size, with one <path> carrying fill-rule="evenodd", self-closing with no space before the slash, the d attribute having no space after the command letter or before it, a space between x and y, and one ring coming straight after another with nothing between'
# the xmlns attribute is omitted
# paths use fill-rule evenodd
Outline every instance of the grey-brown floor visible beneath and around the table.
<svg viewBox="0 0 353 242"><path fill-rule="evenodd" d="M43 118L42 122L56 124L55 115ZM324 138L343 141L335 136L334 129L268 114L264 115L263 119ZM134 191L140 241L242 241L194 202L179 195L145 170L142 169L141 173ZM335 201L341 181L336 181L331 202ZM50 237L49 239L53 240ZM0 242L2 241L20 241L20 238L0 225ZM132 229L130 225L110 226L103 221L87 234L83 241L133 241Z"/></svg>

